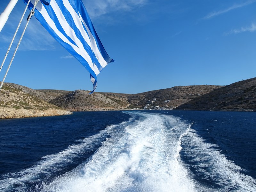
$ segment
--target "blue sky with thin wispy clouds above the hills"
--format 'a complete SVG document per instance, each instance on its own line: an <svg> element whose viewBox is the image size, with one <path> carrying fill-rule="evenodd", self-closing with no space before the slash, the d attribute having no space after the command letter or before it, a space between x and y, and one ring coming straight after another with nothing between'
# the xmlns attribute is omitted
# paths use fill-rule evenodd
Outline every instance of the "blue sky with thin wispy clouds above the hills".
<svg viewBox="0 0 256 192"><path fill-rule="evenodd" d="M1 2L0 12L8 2ZM96 92L228 85L256 76L256 0L83 2L115 60L98 75ZM19 0L0 33L1 62L24 9ZM32 89L92 90L90 74L36 18L28 25L5 81Z"/></svg>

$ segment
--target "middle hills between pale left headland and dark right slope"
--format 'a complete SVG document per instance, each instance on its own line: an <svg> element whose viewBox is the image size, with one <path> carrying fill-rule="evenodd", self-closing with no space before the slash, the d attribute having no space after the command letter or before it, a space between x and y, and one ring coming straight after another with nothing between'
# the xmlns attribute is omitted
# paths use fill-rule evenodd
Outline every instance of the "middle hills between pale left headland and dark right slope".
<svg viewBox="0 0 256 192"><path fill-rule="evenodd" d="M143 109L148 104L161 107L179 106L219 87L221 86L176 86L138 94L94 92L92 95L88 94L89 91L76 90L49 102L70 111Z"/></svg>

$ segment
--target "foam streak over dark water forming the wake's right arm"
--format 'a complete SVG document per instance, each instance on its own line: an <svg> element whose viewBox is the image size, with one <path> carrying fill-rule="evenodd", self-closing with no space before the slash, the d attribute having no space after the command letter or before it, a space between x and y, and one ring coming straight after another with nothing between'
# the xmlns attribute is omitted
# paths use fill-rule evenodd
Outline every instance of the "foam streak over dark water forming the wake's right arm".
<svg viewBox="0 0 256 192"><path fill-rule="evenodd" d="M186 145L184 149L186 154L192 157L191 162L197 173L204 175L206 180L214 181L221 191L256 191L256 180L241 173L241 167L221 154L216 149L217 145L206 143L196 134L195 130L189 129L187 137L184 137L182 142ZM197 189L199 190L200 187ZM211 191L219 190L212 189Z"/></svg>

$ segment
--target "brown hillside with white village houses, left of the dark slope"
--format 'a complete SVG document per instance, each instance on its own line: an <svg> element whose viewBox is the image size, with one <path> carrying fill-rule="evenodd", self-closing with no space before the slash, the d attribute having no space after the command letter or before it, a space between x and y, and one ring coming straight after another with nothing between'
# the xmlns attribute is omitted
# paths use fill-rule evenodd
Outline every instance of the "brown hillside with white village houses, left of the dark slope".
<svg viewBox="0 0 256 192"><path fill-rule="evenodd" d="M217 85L175 86L168 89L130 94L126 98L136 108L143 108L152 103L154 99L153 104L159 107L179 106L220 87Z"/></svg>

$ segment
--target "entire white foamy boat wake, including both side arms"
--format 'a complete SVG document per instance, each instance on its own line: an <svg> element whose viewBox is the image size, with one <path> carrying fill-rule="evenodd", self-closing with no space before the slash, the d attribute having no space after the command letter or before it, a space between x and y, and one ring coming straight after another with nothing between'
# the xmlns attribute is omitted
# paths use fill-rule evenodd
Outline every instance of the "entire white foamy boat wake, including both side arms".
<svg viewBox="0 0 256 192"><path fill-rule="evenodd" d="M134 192L253 191L255 180L205 142L179 117L124 112L132 117L0 181L2 191ZM97 150L75 169L65 167ZM55 172L64 173L56 175ZM43 176L42 176L43 175ZM33 189L26 183L36 183Z"/></svg>

